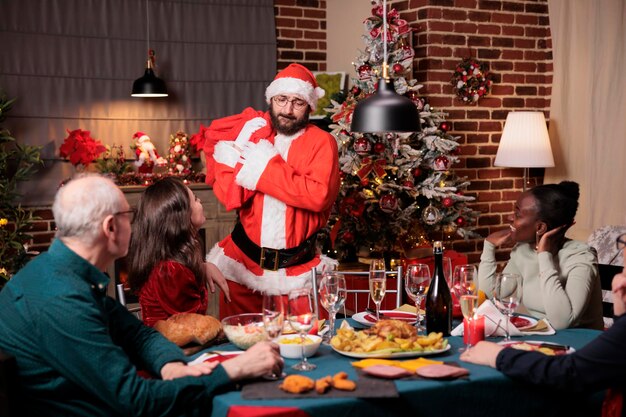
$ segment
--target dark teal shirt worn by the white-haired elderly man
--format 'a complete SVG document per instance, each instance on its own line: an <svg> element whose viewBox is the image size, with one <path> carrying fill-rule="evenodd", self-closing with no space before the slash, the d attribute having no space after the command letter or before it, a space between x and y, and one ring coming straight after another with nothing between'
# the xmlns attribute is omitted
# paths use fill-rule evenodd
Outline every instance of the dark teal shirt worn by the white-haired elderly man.
<svg viewBox="0 0 626 417"><path fill-rule="evenodd" d="M173 381L160 375L182 351L105 295L109 278L60 240L0 292L0 349L17 359L22 415L210 414L224 368Z"/></svg>

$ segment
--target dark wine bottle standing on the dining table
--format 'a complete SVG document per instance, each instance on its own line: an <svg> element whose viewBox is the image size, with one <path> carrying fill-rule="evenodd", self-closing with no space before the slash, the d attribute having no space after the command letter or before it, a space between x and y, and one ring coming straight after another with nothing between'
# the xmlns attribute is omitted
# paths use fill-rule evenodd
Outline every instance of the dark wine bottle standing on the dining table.
<svg viewBox="0 0 626 417"><path fill-rule="evenodd" d="M449 336L452 330L452 295L443 273L443 244L433 244L435 268L426 293L426 332L441 332Z"/></svg>

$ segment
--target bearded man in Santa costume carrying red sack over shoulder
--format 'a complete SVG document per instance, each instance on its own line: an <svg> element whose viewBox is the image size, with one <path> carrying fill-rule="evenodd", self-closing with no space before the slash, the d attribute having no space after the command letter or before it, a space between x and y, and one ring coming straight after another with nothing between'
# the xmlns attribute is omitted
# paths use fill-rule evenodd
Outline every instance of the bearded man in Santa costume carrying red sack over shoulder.
<svg viewBox="0 0 626 417"><path fill-rule="evenodd" d="M316 235L339 192L337 143L309 123L323 96L313 74L291 64L265 90L269 112L248 108L205 132L207 182L239 215L207 255L228 283L222 317L260 312L263 293L311 285L321 262Z"/></svg>

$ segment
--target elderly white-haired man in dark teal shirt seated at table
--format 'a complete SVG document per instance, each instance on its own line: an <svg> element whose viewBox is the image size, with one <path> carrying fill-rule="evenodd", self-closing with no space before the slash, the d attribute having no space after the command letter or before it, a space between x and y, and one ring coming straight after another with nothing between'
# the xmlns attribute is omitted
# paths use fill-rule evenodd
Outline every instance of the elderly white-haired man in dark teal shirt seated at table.
<svg viewBox="0 0 626 417"><path fill-rule="evenodd" d="M213 395L233 381L280 373L267 342L219 365L188 366L177 346L106 296L103 271L126 255L134 216L113 182L72 180L52 210L49 251L0 292L0 349L17 360L24 415L210 413Z"/></svg>

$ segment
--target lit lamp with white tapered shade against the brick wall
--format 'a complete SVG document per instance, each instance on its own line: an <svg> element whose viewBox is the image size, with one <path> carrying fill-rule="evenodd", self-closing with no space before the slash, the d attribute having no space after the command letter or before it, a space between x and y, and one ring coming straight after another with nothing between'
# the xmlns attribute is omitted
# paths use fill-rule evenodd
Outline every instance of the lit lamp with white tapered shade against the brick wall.
<svg viewBox="0 0 626 417"><path fill-rule="evenodd" d="M507 115L493 164L524 168L524 191L529 168L554 166L550 136L542 112L519 111Z"/></svg>

